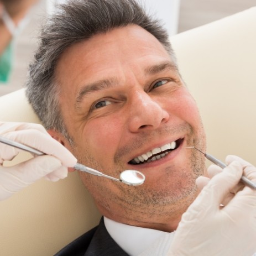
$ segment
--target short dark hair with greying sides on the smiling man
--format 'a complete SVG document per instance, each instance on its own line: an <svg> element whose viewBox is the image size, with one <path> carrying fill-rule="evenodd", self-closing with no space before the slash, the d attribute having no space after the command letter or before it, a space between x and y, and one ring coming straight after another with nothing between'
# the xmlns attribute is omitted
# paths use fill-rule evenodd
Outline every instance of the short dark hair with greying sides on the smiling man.
<svg viewBox="0 0 256 256"><path fill-rule="evenodd" d="M175 61L169 36L159 20L150 17L135 0L71 0L49 17L40 36L40 45L29 66L26 96L46 129L62 133L72 144L62 118L55 79L61 54L71 45L117 27L136 24L163 44Z"/></svg>

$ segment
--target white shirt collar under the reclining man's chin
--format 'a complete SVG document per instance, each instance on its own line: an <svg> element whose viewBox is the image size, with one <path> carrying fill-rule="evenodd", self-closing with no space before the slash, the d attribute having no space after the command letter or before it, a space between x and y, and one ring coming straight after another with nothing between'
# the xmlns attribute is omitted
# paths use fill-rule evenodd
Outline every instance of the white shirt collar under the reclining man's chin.
<svg viewBox="0 0 256 256"><path fill-rule="evenodd" d="M104 223L109 235L131 256L137 256L148 249L160 237L168 232L156 229L142 228L119 223L104 217Z"/></svg>

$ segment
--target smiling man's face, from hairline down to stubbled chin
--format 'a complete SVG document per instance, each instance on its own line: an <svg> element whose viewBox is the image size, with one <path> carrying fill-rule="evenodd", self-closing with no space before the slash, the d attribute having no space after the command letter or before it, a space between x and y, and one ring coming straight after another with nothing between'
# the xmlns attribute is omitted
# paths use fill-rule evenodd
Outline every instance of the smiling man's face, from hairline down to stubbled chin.
<svg viewBox="0 0 256 256"><path fill-rule="evenodd" d="M196 177L205 171L203 157L186 147L204 150L205 134L163 45L137 25L116 28L67 49L56 80L75 143L64 144L79 162L117 178L127 169L146 177L143 185L128 186L81 173L103 215L174 229L197 194Z"/></svg>

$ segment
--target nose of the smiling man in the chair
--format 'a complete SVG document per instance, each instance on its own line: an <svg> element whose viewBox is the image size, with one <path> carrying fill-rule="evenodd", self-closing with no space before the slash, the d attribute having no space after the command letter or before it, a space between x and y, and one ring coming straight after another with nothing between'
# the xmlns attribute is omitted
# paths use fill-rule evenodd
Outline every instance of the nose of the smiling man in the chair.
<svg viewBox="0 0 256 256"><path fill-rule="evenodd" d="M169 113L151 98L147 92L133 94L129 105L128 126L130 132L142 132L156 129L169 119Z"/></svg>

